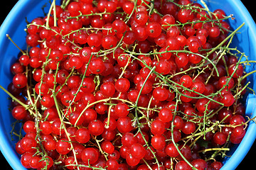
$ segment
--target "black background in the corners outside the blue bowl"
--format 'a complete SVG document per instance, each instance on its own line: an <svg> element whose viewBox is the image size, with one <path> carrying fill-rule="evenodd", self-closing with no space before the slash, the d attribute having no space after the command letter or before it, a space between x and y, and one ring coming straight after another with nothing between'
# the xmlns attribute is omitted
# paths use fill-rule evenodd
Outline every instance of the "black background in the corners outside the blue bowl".
<svg viewBox="0 0 256 170"><path fill-rule="evenodd" d="M18 0L9 0L9 1L3 1L3 4L1 5L2 8L0 10L0 23L4 21L4 18L8 15L9 11L11 11L11 8L16 4ZM250 12L252 18L256 21L256 10L255 10L255 4L253 4L253 1L250 0L243 0L242 3L245 5L247 10ZM256 30L255 30L256 31ZM1 140L1 139L0 139ZM254 145L252 145L252 148L250 149L250 152L248 152L247 156L241 164L238 166L237 170L242 170L242 169L255 169L252 168L255 164L253 162L256 159L256 142ZM11 166L9 166L8 162L6 162L6 159L3 157L3 155L0 152L0 160L1 160L1 169L11 169ZM247 168L246 168L247 166ZM231 169L230 169L231 170Z"/></svg>

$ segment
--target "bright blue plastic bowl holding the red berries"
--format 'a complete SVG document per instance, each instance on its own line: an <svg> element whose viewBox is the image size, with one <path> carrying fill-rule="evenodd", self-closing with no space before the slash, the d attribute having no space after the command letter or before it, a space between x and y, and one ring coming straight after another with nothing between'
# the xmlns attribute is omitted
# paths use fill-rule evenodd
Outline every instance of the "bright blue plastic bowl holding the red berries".
<svg viewBox="0 0 256 170"><path fill-rule="evenodd" d="M58 3L60 3L58 1ZM17 59L18 49L6 38L6 34L9 34L14 42L21 48L26 48L25 37L26 33L23 30L26 28L26 21L32 21L37 16L43 16L41 7L46 5L46 10L50 7L48 0L20 0L11 10L4 23L0 28L0 84L7 88L11 82L10 66ZM240 34L235 35L233 40L233 47L238 47L238 50L245 52L249 56L250 60L256 60L256 25L252 20L250 13L247 11L245 6L239 0L208 0L206 2L210 11L216 8L221 8L227 14L233 14L235 17L234 21L230 21L232 28L238 28L242 23L245 26L239 30ZM252 64L247 67L246 71L250 72L256 69L256 65ZM248 77L248 81L251 82L250 87L256 91L256 75ZM20 163L20 156L16 154L15 143L18 138L14 137L11 140L11 124L15 122L9 111L10 101L4 91L0 90L0 149L6 157L13 169L25 170ZM255 111L256 98L250 94L247 96L246 104L246 115L250 118L256 116ZM221 170L235 169L238 164L245 157L256 137L256 124L250 122L245 137L243 138L240 145L232 148L232 151L228 153L232 157L225 157L223 161L223 168Z"/></svg>

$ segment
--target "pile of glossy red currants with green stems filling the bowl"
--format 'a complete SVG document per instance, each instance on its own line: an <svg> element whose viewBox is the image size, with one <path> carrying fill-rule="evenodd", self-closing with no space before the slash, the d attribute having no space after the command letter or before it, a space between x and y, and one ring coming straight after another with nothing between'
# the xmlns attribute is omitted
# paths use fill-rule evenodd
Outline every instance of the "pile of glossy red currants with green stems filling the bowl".
<svg viewBox="0 0 256 170"><path fill-rule="evenodd" d="M220 169L249 122L228 19L190 0L53 0L11 65L21 164Z"/></svg>

